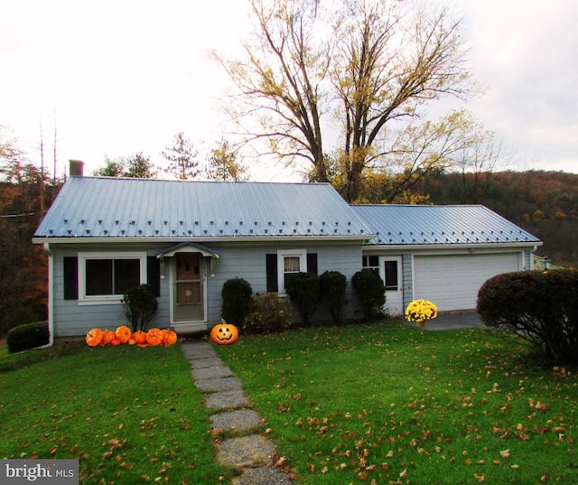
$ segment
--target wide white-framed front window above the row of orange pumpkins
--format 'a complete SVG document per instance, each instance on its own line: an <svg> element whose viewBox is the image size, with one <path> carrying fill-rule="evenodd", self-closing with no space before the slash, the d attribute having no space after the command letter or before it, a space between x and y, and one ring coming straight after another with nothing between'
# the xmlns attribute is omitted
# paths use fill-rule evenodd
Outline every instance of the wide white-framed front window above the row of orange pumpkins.
<svg viewBox="0 0 578 485"><path fill-rule="evenodd" d="M146 283L146 253L79 253L79 303L118 303Z"/></svg>

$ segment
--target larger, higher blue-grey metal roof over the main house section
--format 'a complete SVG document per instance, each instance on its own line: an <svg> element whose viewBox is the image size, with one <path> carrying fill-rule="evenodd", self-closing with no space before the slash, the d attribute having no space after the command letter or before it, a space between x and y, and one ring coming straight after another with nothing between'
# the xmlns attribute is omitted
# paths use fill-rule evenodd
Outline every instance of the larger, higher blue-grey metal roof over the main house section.
<svg viewBox="0 0 578 485"><path fill-rule="evenodd" d="M70 177L34 240L372 236L327 183Z"/></svg>

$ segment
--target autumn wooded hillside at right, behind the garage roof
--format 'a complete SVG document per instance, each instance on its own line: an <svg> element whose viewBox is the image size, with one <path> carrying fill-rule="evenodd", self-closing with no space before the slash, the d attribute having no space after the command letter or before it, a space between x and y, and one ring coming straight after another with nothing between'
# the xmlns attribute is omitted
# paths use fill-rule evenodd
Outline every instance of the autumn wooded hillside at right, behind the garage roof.
<svg viewBox="0 0 578 485"><path fill-rule="evenodd" d="M544 241L536 251L578 266L578 174L437 173L419 187L434 204L482 204Z"/></svg>

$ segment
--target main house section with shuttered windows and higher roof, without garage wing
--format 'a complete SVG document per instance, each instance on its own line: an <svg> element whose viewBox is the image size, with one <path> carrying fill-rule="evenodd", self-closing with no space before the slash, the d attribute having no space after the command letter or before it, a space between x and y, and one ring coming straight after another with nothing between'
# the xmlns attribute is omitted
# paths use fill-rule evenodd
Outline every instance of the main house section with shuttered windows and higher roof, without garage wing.
<svg viewBox="0 0 578 485"><path fill-rule="evenodd" d="M49 255L49 325L61 337L126 322L122 296L143 283L158 296L155 325L204 330L220 322L228 279L280 295L295 272L350 280L372 237L326 183L71 176L33 242Z"/></svg>

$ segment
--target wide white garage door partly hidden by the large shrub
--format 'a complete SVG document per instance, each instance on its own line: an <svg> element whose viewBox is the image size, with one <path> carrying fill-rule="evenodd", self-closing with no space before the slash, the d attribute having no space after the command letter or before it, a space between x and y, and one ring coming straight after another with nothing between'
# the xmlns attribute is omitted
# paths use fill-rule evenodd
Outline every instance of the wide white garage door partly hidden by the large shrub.
<svg viewBox="0 0 578 485"><path fill-rule="evenodd" d="M471 310L486 280L519 269L519 253L415 256L414 297L435 303L440 311Z"/></svg>

